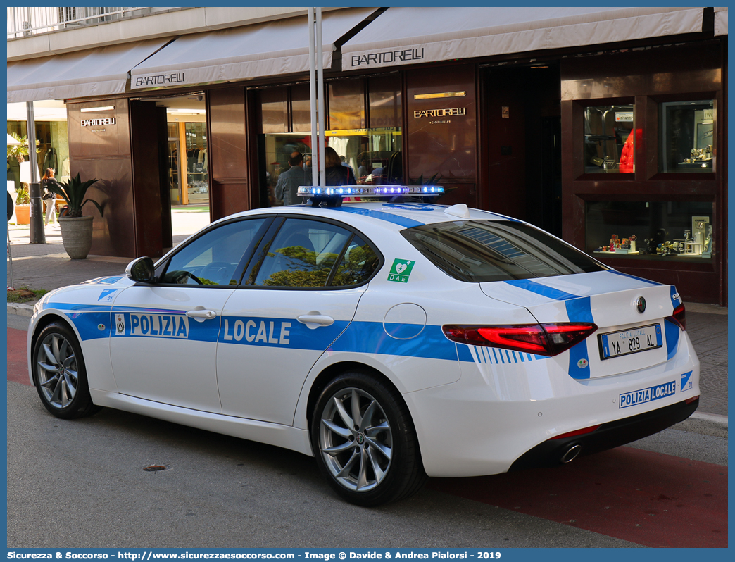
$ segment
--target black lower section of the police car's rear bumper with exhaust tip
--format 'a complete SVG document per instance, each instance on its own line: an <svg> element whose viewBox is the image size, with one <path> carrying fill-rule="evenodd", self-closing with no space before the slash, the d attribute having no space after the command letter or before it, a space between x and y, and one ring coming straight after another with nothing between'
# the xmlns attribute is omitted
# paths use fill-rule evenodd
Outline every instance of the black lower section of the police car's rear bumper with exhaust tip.
<svg viewBox="0 0 735 562"><path fill-rule="evenodd" d="M610 421L600 425L592 433L544 441L517 458L508 472L540 466L560 466L578 455L591 455L620 447L684 421L695 412L698 405L699 397L639 413L637 416Z"/></svg>

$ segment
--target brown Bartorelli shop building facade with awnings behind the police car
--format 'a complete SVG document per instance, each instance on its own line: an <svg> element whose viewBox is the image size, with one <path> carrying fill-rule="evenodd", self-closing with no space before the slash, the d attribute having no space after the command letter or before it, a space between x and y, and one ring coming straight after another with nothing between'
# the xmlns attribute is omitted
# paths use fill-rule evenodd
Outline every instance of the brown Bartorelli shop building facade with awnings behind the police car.
<svg viewBox="0 0 735 562"><path fill-rule="evenodd" d="M161 255L171 204L280 204L290 154L311 155L303 9L216 10L137 15L159 31L107 44L130 22L96 24L95 49L9 41L8 101L65 99L71 173L101 179L93 253ZM323 140L359 182L437 182L727 304L727 10L345 8L323 43Z"/></svg>

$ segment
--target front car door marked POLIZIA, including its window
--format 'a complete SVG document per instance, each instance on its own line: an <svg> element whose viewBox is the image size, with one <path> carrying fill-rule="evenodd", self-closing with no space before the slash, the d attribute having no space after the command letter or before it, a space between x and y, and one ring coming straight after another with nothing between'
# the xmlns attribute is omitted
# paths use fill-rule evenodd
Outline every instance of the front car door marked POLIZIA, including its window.
<svg viewBox="0 0 735 562"><path fill-rule="evenodd" d="M270 220L218 224L159 264L158 282L121 292L110 342L118 392L221 412L215 360L222 310Z"/></svg>

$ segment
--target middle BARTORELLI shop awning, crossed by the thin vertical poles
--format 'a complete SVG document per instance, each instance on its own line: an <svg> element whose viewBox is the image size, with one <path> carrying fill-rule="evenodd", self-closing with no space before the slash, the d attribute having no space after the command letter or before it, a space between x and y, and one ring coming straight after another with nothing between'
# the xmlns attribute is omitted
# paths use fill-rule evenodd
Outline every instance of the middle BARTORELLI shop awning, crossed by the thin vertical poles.
<svg viewBox="0 0 735 562"><path fill-rule="evenodd" d="M375 8L325 12L323 65L331 67L334 43ZM308 18L288 18L184 35L132 69L130 90L180 88L309 71Z"/></svg>

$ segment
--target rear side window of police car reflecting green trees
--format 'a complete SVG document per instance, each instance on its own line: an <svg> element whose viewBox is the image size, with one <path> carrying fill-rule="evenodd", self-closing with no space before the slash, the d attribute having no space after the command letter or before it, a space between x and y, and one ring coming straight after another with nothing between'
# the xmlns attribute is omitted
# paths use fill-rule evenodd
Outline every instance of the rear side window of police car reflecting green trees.
<svg viewBox="0 0 735 562"><path fill-rule="evenodd" d="M287 218L270 244L253 285L355 285L370 277L377 262L370 246L349 230L326 222Z"/></svg>

